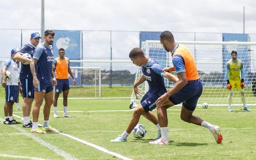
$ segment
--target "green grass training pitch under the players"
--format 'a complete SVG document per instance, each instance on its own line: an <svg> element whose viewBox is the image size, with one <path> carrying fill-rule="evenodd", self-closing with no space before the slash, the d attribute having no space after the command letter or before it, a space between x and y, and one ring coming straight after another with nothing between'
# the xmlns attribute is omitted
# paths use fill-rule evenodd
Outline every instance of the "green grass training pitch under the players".
<svg viewBox="0 0 256 160"><path fill-rule="evenodd" d="M129 91L130 92L130 91ZM130 94L128 91L112 94ZM128 136L127 142L113 143L110 140L123 133L132 117L128 105L129 99L108 100L73 100L68 101L68 111L72 118L53 118L50 115L50 125L61 133L79 138L82 142L58 133L35 135L22 124L4 125L4 92L0 89L0 159L209 159L209 160L252 160L256 157L256 107L250 107L252 112L241 110L242 107L232 107L229 113L227 107L197 108L194 115L221 127L223 143L216 144L208 129L183 122L180 107L168 110L168 135L170 145L149 145L157 135L157 128L141 117L139 123L144 124L147 133L142 139ZM72 93L72 90L70 91ZM74 92L70 95L73 96ZM77 92L76 94L77 95ZM124 96L125 97L125 96ZM20 100L20 105L22 100ZM58 115L62 116L62 100L59 100ZM14 115L22 117L22 111ZM42 111L42 108L41 108ZM51 109L53 111L53 108ZM73 111L73 112L71 112ZM79 112L77 112L79 111ZM156 111L153 111L156 114ZM21 119L14 118L22 122ZM32 119L32 114L31 114ZM39 124L43 123L43 113L39 115ZM89 142L89 143L88 143ZM97 145L92 147L91 145ZM96 147L96 148L95 148ZM112 153L112 154L110 154Z"/></svg>

